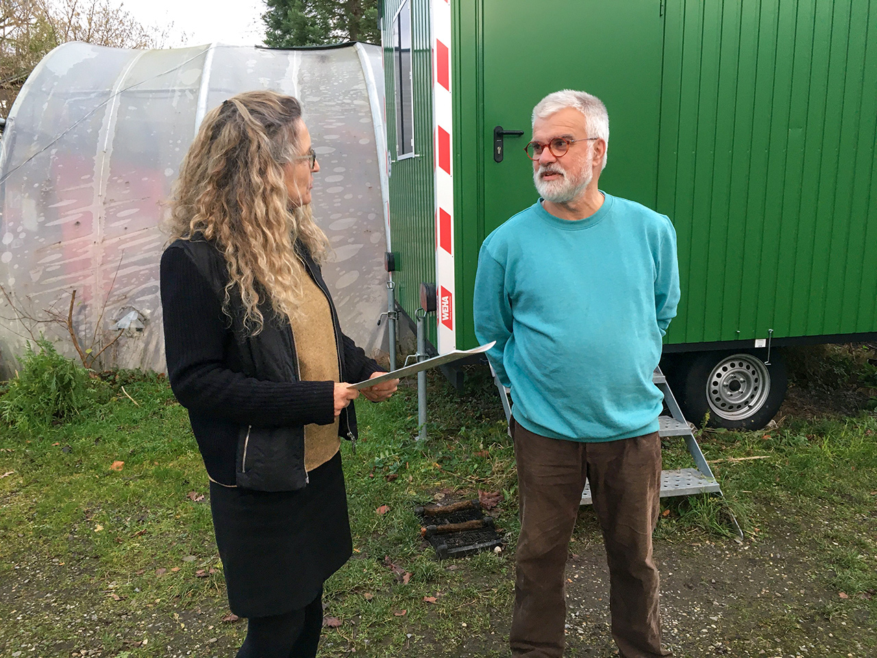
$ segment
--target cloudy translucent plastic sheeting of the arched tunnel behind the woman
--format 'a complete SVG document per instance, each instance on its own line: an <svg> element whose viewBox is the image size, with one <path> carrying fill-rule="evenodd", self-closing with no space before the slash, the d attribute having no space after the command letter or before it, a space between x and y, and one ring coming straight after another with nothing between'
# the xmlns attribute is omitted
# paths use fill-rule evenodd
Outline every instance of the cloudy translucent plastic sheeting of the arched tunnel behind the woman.
<svg viewBox="0 0 877 658"><path fill-rule="evenodd" d="M95 333L111 340L112 327L137 311L101 365L165 369L162 204L204 112L249 89L302 101L321 166L314 215L333 247L325 279L345 333L367 353L386 349L377 325L388 248L379 46L138 51L68 43L33 71L0 139L0 285L19 311L0 302L4 375L29 337L21 314L66 317L73 290L83 349ZM75 355L63 326L40 327Z"/></svg>

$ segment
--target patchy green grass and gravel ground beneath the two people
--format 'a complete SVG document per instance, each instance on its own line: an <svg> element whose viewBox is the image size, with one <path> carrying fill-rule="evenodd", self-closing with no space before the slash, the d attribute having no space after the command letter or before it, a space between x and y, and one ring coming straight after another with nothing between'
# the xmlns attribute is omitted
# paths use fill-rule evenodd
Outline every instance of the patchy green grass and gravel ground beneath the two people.
<svg viewBox="0 0 877 658"><path fill-rule="evenodd" d="M838 354L838 383L824 390L805 372L779 426L701 436L724 500L663 501L655 545L677 656L877 654L877 417L844 374L860 360ZM414 440L413 380L389 403L358 404L363 440L356 455L342 448L356 552L327 583L325 614L340 625L325 629L320 655L507 654L514 455L486 373L468 374L463 397L431 379L425 445ZM3 655L230 656L246 633L228 616L186 413L165 380L135 380L124 383L136 404L112 383L114 395L75 422L0 428ZM841 389L838 413L821 396ZM689 465L681 440L666 441L665 461ZM479 490L503 493L496 525L507 548L437 561L413 508ZM583 508L567 563L570 656L615 652L602 550Z"/></svg>

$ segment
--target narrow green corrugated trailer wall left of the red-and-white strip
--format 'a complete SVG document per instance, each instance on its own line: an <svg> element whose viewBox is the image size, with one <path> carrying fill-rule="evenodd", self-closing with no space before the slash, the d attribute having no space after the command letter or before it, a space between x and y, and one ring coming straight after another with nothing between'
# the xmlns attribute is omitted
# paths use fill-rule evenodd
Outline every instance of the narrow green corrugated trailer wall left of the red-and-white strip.
<svg viewBox="0 0 877 658"><path fill-rule="evenodd" d="M420 283L434 282L435 220L432 156L432 61L430 4L411 4L411 45L414 51L414 148L417 157L396 161L396 104L392 23L402 0L383 3L384 79L387 91L387 144L393 160L389 178L390 236L396 253L396 300L414 318L420 307ZM428 339L435 344L435 318L428 320Z"/></svg>

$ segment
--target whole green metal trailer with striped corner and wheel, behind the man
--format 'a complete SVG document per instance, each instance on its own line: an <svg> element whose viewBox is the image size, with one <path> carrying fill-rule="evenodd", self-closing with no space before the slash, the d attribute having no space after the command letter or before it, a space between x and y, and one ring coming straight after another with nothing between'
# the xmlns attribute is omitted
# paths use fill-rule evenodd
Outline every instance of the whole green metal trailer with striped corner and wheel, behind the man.
<svg viewBox="0 0 877 658"><path fill-rule="evenodd" d="M439 353L476 344L481 241L535 200L531 109L566 88L609 109L602 188L675 225L688 418L763 426L776 347L877 337L873 2L384 0L381 35L391 275L409 318L435 285Z"/></svg>

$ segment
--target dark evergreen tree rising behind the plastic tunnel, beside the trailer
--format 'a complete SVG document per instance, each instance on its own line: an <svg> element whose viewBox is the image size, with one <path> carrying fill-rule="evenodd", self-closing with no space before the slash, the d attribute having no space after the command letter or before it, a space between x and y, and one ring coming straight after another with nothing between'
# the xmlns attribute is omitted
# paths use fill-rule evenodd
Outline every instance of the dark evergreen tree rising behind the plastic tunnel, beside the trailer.
<svg viewBox="0 0 877 658"><path fill-rule="evenodd" d="M377 0L267 0L265 44L277 48L342 41L380 43Z"/></svg>

